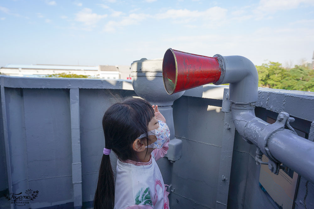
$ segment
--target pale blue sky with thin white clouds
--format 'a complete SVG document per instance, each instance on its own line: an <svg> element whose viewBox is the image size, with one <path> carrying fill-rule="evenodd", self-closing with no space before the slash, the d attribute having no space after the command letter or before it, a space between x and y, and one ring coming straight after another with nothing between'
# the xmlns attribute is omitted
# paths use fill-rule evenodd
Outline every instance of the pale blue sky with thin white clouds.
<svg viewBox="0 0 314 209"><path fill-rule="evenodd" d="M130 65L168 48L311 62L314 0L1 0L0 66Z"/></svg>

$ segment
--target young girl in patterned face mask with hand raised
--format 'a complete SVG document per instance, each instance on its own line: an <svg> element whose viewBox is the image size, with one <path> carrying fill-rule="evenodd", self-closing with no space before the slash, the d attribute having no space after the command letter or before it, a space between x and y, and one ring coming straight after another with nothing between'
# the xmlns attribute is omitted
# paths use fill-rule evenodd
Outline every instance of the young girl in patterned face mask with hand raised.
<svg viewBox="0 0 314 209"><path fill-rule="evenodd" d="M158 106L132 98L109 107L102 119L106 147L93 208L169 209L155 160L167 153L170 131ZM116 182L109 153L116 154ZM167 185L168 186L168 185Z"/></svg>

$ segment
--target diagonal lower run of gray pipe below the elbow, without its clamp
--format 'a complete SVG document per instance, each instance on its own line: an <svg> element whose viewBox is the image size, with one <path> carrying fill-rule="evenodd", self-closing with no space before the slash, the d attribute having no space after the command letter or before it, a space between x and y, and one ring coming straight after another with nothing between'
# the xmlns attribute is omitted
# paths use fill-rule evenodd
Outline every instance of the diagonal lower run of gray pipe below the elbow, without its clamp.
<svg viewBox="0 0 314 209"><path fill-rule="evenodd" d="M269 158L269 153L265 151L266 146L274 159L314 183L313 142L284 128L276 130L268 139L265 139L264 136L269 134L267 129L271 124L255 117L252 108L236 108L239 108L237 104L231 105L233 122L244 140L259 147Z"/></svg>

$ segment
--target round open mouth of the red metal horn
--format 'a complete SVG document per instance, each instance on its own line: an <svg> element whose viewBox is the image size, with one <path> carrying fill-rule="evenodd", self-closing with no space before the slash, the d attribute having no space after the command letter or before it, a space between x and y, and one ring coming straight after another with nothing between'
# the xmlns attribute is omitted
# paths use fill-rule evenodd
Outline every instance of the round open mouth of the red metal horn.
<svg viewBox="0 0 314 209"><path fill-rule="evenodd" d="M178 66L176 55L171 48L167 49L162 62L162 77L165 90L168 94L173 94L176 89Z"/></svg>

